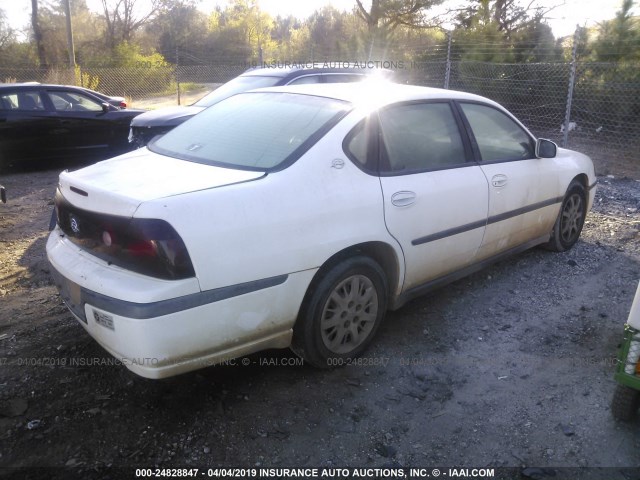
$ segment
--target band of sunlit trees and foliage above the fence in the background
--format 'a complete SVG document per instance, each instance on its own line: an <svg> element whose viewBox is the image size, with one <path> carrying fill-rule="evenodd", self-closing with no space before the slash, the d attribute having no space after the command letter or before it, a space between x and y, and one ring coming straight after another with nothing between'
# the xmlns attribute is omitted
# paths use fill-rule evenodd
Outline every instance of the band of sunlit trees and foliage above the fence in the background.
<svg viewBox="0 0 640 480"><path fill-rule="evenodd" d="M452 58L493 63L569 61L572 38L555 41L544 22L545 12L536 7L540 1L468 0L454 20ZM437 24L431 7L441 0L352 0L351 11L325 6L305 20L274 19L257 0L229 0L208 15L197 8L196 0L149 0L143 10L124 18L123 9L135 2L105 0L105 11L98 14L87 8L87 0L71 0L76 63L84 73L103 67L140 70L136 74L140 83L149 82L150 88L162 91L170 84L172 66L178 64L369 59L408 63L446 58L443 30L425 28ZM61 3L40 3L45 63L66 65ZM581 32L579 60L640 61L640 27L631 15L633 3L621 0L615 19ZM0 11L0 64L37 66L33 42L16 40L5 20ZM128 40L117 41L125 37ZM97 81L104 83L99 77Z"/></svg>

